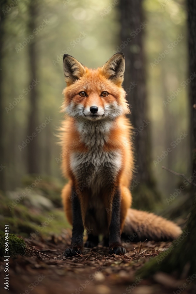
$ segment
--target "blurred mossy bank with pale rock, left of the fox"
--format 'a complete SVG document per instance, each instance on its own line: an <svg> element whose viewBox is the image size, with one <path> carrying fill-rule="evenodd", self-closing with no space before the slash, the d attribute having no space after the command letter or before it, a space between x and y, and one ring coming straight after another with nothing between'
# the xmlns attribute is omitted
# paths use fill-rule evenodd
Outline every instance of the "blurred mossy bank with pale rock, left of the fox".
<svg viewBox="0 0 196 294"><path fill-rule="evenodd" d="M31 186L34 176L24 177L24 186ZM62 228L71 227L61 208L60 192L61 184L57 179L43 177L29 193L26 188L10 192L7 196L0 193L0 230L3 231L4 224L8 223L11 233L29 238L35 232L36 235L44 236L61 233Z"/></svg>

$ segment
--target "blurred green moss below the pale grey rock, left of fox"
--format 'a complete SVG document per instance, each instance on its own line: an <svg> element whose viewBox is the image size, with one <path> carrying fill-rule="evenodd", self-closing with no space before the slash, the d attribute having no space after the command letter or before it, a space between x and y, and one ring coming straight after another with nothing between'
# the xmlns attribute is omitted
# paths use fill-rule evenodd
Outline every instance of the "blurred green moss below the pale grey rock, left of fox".
<svg viewBox="0 0 196 294"><path fill-rule="evenodd" d="M34 177L30 177L29 181L33 183L33 179ZM52 184L48 184L48 188L51 186ZM57 193L57 190L58 189L55 190L53 187L53 191L56 191L55 193L57 197L60 198L60 193ZM46 191L46 193L49 192ZM29 238L31 233L34 233L37 230L39 232L39 236L45 237L52 233L60 234L62 228L70 227L62 208L54 208L50 211L46 210L45 208L31 208L30 206L25 206L25 199L24 201L20 201L16 206L13 206L13 200L9 199L2 193L0 193L0 202L2 203L0 206L1 233L4 232L4 223L9 224L10 233L21 235L25 238ZM48 221L49 216L54 216L54 218Z"/></svg>

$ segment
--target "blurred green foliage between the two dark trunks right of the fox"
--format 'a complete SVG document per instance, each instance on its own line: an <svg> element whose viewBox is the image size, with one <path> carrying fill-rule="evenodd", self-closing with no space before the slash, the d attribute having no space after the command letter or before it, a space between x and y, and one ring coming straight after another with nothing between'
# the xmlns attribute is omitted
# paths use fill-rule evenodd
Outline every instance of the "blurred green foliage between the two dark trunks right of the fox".
<svg viewBox="0 0 196 294"><path fill-rule="evenodd" d="M188 176L190 164L190 132L189 132L189 85L181 83L189 78L187 74L187 8L186 1L144 0L146 74L149 106L149 121L152 138L152 168L158 188L165 198L175 192L179 178L162 169L162 166L185 173ZM171 50L178 35L184 37ZM176 44L176 43L175 43ZM162 55L165 50L168 54ZM151 66L158 59L157 65ZM176 92L180 88L180 92ZM177 93L176 95L173 92ZM172 98L167 102L168 97ZM184 132L188 136L173 148L171 143ZM163 160L156 166L162 151L171 148ZM183 192L182 192L183 193ZM165 206L167 203L163 198ZM175 200L178 201L178 198Z"/></svg>

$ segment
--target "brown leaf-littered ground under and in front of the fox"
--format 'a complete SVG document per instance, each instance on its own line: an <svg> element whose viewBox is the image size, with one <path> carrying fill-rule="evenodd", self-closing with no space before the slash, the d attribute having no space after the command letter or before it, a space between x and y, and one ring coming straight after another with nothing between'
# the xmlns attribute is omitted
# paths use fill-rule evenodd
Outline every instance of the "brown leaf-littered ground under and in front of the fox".
<svg viewBox="0 0 196 294"><path fill-rule="evenodd" d="M101 245L85 248L82 255L65 258L64 249L71 241L71 230L63 230L48 239L25 239L27 255L9 258L9 290L4 289L1 266L1 293L13 294L184 294L196 293L194 283L174 275L156 273L151 278L134 276L151 257L158 258L171 242L146 241L125 245L127 253L108 255ZM27 242L28 241L28 242ZM1 265L3 258L0 259ZM160 260L157 260L160 262ZM185 286L185 284L187 286Z"/></svg>

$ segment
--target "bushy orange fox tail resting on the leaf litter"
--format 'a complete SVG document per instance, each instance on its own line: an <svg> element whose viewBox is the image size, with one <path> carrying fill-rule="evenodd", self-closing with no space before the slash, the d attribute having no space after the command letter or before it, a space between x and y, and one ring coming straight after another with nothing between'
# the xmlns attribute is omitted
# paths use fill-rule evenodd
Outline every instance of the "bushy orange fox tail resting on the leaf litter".
<svg viewBox="0 0 196 294"><path fill-rule="evenodd" d="M132 242L155 240L167 241L179 237L180 227L165 218L153 213L129 208L122 237L129 236Z"/></svg>

